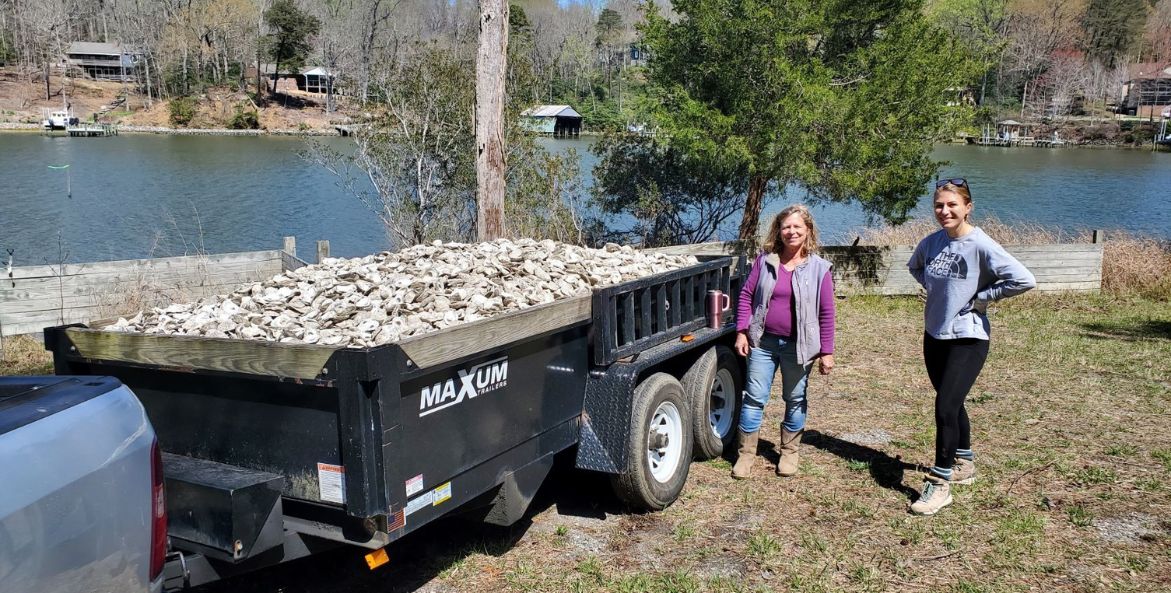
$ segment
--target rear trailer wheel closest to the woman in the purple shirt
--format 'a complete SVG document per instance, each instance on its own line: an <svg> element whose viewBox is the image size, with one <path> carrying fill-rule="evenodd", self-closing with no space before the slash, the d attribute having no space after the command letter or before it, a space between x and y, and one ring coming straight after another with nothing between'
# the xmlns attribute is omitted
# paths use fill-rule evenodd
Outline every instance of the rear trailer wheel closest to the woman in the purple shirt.
<svg viewBox="0 0 1171 593"><path fill-rule="evenodd" d="M707 350L683 375L684 391L691 397L697 459L719 457L734 439L744 397L742 375L735 354L727 346Z"/></svg>

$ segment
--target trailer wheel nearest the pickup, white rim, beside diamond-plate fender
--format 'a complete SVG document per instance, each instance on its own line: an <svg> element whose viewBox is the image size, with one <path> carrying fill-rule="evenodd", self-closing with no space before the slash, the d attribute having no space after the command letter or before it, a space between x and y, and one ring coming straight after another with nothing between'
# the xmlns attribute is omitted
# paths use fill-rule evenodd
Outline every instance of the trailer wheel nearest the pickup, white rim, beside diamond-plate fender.
<svg viewBox="0 0 1171 593"><path fill-rule="evenodd" d="M635 388L626 466L611 477L629 505L657 511L678 498L691 465L691 410L679 381L656 373Z"/></svg>

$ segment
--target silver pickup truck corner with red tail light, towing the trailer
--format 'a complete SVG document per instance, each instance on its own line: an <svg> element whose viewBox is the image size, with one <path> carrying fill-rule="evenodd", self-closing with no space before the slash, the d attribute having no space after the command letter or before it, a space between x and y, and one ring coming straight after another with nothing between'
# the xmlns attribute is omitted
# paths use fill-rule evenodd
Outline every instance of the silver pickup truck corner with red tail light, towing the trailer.
<svg viewBox="0 0 1171 593"><path fill-rule="evenodd" d="M155 430L112 377L0 377L0 592L157 593Z"/></svg>

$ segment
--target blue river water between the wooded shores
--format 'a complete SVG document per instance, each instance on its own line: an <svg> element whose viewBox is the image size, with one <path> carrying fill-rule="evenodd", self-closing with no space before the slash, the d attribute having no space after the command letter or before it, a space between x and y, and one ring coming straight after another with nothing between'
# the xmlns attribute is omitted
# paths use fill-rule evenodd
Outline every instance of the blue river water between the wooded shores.
<svg viewBox="0 0 1171 593"><path fill-rule="evenodd" d="M593 138L542 142L576 149L587 175L596 162ZM283 137L0 134L0 248L14 250L16 265L271 250L289 234L306 259L317 239L334 255L388 248L374 213L301 159L303 146ZM944 177L968 179L977 216L1171 239L1171 154L947 145L934 157L950 162ZM70 166L48 168L61 164ZM779 197L766 216L800 198ZM927 188L916 212L930 214ZM814 213L827 243L851 240L868 223L856 205Z"/></svg>

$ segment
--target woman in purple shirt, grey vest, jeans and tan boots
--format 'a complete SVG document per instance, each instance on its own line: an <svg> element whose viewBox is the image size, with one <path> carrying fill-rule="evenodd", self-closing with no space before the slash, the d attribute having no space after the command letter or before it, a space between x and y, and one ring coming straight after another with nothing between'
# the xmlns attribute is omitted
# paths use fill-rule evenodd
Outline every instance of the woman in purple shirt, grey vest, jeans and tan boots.
<svg viewBox="0 0 1171 593"><path fill-rule="evenodd" d="M785 422L778 476L797 472L797 445L806 422L806 384L813 361L822 375L834 368L834 279L817 257L817 227L800 204L786 207L768 230L763 251L740 289L735 350L748 357L748 384L740 408L740 454L733 478L747 478L778 367Z"/></svg>

